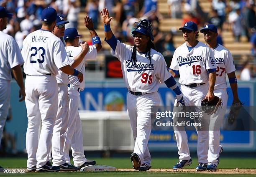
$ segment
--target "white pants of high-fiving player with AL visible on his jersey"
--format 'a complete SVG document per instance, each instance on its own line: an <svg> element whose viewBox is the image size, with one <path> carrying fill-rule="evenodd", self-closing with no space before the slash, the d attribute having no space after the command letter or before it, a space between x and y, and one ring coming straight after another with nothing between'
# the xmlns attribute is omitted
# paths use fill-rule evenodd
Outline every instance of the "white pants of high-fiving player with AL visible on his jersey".
<svg viewBox="0 0 256 177"><path fill-rule="evenodd" d="M80 94L77 90L77 86L70 85L68 88L69 123L67 131L65 132L66 139L64 142L64 156L66 162L70 164L69 145L71 145L74 166L79 167L84 164L87 159L84 155L82 121L78 113Z"/></svg>

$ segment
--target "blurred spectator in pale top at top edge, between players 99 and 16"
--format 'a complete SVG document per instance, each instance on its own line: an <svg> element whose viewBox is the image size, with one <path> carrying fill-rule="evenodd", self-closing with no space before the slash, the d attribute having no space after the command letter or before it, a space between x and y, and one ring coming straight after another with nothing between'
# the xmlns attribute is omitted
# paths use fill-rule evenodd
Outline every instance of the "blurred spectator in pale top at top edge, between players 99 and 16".
<svg viewBox="0 0 256 177"><path fill-rule="evenodd" d="M182 0L167 0L168 15L171 18L182 18Z"/></svg>

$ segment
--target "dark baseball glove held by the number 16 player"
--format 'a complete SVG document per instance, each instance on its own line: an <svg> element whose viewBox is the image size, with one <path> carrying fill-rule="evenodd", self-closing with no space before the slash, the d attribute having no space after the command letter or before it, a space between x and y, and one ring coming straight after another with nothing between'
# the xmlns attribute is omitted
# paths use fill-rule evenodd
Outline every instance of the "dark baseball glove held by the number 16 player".
<svg viewBox="0 0 256 177"><path fill-rule="evenodd" d="M214 114L219 106L221 106L221 98L218 96L214 96L212 101L208 101L208 99L203 99L201 101L202 111L207 114Z"/></svg>

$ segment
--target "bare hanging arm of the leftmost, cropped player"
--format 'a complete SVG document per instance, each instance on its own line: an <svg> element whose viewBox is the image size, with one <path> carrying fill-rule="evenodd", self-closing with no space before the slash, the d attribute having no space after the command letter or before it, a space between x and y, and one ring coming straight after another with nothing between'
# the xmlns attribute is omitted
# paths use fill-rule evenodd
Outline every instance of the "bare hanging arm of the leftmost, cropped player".
<svg viewBox="0 0 256 177"><path fill-rule="evenodd" d="M15 78L16 82L20 87L19 98L21 97L21 99L19 101L23 101L25 99L26 93L25 93L25 87L23 83L23 77L22 77L20 65L14 66L12 68L12 71L13 71L13 77Z"/></svg>

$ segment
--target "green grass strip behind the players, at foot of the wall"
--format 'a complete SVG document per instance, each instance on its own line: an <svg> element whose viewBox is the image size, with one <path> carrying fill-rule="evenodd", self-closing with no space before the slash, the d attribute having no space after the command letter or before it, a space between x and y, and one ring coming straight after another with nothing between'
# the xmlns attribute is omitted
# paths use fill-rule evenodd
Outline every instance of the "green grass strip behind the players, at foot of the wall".
<svg viewBox="0 0 256 177"><path fill-rule="evenodd" d="M109 165L117 168L131 168L131 160L127 158L91 158L97 164ZM171 168L179 160L177 158L152 158L152 168ZM26 168L26 158L0 158L0 166L5 168ZM192 159L192 165L186 168L195 168L197 159ZM222 157L218 166L220 169L256 169L256 158Z"/></svg>

